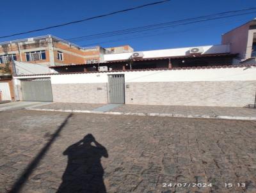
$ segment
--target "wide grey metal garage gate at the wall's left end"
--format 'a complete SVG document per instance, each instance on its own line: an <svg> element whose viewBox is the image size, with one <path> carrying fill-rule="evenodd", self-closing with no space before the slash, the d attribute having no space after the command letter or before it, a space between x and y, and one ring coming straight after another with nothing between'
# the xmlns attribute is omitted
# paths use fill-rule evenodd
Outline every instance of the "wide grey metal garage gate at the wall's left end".
<svg viewBox="0 0 256 193"><path fill-rule="evenodd" d="M50 78L21 79L22 100L52 102Z"/></svg>

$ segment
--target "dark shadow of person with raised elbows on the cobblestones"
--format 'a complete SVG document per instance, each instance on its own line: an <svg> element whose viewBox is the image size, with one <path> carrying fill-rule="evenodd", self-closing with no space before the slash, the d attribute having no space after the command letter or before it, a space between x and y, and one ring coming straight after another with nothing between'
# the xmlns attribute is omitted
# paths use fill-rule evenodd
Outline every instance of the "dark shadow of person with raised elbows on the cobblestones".
<svg viewBox="0 0 256 193"><path fill-rule="evenodd" d="M60 192L105 193L104 170L100 158L108 157L108 151L92 134L72 144L63 152L68 156L67 168L62 176Z"/></svg>

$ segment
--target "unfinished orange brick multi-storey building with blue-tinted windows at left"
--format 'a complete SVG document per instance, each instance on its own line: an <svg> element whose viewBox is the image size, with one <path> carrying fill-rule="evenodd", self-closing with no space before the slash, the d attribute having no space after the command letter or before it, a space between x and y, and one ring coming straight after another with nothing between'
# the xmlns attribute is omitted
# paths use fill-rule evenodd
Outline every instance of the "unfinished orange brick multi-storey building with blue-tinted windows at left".
<svg viewBox="0 0 256 193"><path fill-rule="evenodd" d="M100 46L80 47L55 36L39 36L23 40L0 43L0 65L9 61L26 61L47 66L70 65L72 63L99 63L104 54L129 52L129 45L104 49Z"/></svg>

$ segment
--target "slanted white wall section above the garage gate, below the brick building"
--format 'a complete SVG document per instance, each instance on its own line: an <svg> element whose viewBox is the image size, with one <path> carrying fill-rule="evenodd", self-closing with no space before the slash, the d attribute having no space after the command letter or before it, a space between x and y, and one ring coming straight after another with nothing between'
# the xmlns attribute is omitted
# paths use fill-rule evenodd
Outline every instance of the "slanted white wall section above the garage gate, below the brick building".
<svg viewBox="0 0 256 193"><path fill-rule="evenodd" d="M26 63L21 61L14 61L14 66L17 75L31 75L39 73L54 73L55 70L48 68L45 65L38 65L33 63Z"/></svg>

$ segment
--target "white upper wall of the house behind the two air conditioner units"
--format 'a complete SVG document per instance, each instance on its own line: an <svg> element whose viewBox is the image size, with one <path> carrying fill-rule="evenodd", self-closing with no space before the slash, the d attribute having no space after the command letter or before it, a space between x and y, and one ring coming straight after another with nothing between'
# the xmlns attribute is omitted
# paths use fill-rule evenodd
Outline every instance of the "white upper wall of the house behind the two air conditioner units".
<svg viewBox="0 0 256 193"><path fill-rule="evenodd" d="M204 49L202 54L221 54L230 52L230 45L206 45L198 46ZM143 52L143 58L161 58L172 56L186 56L189 55L189 49L193 47L184 47L178 49L164 49L164 50L150 50L150 51L138 51ZM120 53L120 54L105 54L105 61L115 61L129 59L134 52Z"/></svg>

